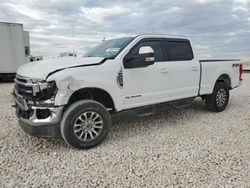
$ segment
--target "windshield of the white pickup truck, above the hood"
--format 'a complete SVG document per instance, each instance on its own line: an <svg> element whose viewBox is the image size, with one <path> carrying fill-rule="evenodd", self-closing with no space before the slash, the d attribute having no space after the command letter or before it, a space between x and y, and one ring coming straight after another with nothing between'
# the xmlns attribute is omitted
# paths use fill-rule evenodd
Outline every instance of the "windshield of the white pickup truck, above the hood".
<svg viewBox="0 0 250 188"><path fill-rule="evenodd" d="M102 42L85 54L85 57L114 59L134 38L124 37Z"/></svg>

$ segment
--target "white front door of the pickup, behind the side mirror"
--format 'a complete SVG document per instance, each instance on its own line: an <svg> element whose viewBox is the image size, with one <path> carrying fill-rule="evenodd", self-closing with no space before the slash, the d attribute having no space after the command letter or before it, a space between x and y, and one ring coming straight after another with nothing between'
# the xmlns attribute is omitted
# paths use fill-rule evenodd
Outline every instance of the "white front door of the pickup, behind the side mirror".
<svg viewBox="0 0 250 188"><path fill-rule="evenodd" d="M157 39L138 42L127 55L139 54L139 48L150 46L155 53L155 63L143 68L123 69L123 97L125 108L145 106L167 101L168 65L164 62L162 43Z"/></svg>

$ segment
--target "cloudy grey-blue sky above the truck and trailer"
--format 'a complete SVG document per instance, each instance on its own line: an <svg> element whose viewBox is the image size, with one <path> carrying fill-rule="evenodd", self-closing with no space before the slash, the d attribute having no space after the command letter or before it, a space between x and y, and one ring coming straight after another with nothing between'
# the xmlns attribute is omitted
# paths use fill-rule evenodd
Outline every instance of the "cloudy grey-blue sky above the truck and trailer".
<svg viewBox="0 0 250 188"><path fill-rule="evenodd" d="M143 33L190 38L202 58L250 58L250 0L1 0L0 22L22 23L44 57Z"/></svg>

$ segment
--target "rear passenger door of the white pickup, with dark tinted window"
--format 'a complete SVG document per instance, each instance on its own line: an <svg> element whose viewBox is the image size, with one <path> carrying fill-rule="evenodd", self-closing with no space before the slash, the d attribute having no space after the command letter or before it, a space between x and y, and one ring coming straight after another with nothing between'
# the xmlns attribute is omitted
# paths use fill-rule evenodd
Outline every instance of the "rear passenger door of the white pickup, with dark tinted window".
<svg viewBox="0 0 250 188"><path fill-rule="evenodd" d="M186 39L168 39L164 42L163 48L170 71L170 99L197 96L200 64L194 60L190 42Z"/></svg>

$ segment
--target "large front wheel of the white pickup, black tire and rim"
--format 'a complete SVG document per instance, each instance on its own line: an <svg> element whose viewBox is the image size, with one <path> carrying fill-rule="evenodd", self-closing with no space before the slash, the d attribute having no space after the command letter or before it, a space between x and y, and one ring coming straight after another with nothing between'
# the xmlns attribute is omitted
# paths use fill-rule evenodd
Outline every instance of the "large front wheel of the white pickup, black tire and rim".
<svg viewBox="0 0 250 188"><path fill-rule="evenodd" d="M92 112L96 117L98 115L100 117L98 117L97 120L94 120L94 118L92 118ZM89 114L91 117L88 117L90 116ZM77 121L79 122L77 123ZM99 122L99 125L97 126L99 127L98 129L94 128L97 125L95 124L95 121ZM102 122L102 126L100 126L100 122ZM88 130L85 130L87 129L87 126L90 127L88 127ZM93 100L80 100L73 103L64 112L60 123L60 131L67 144L78 149L90 149L99 145L103 141L108 135L110 126L111 116L102 104ZM93 134L93 130L98 134ZM83 135L81 136L81 134ZM93 135L96 137L92 139Z"/></svg>

